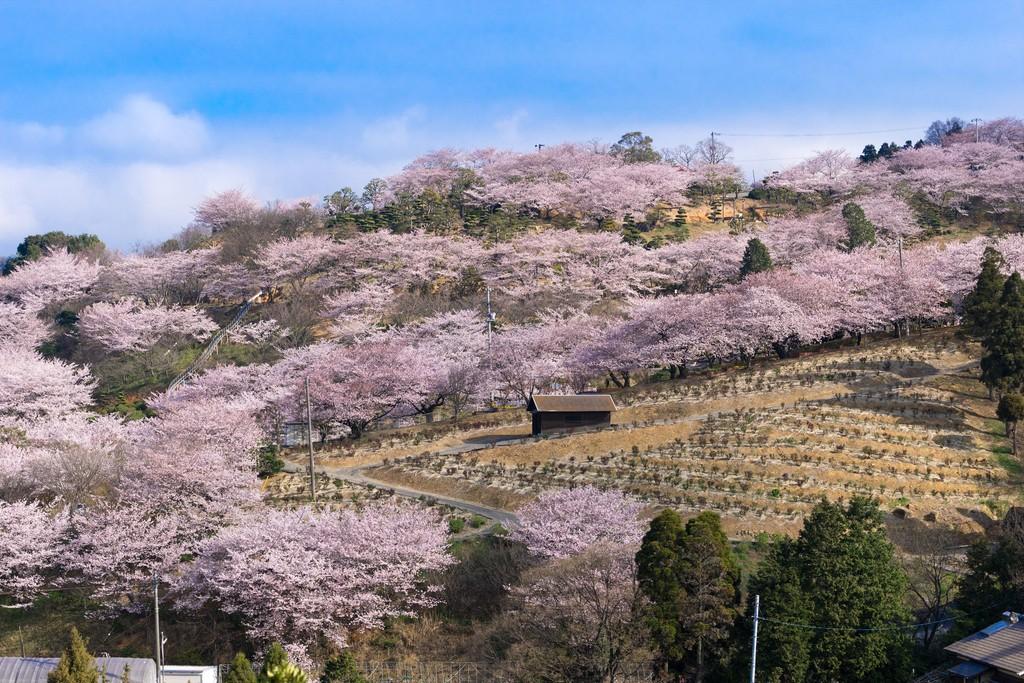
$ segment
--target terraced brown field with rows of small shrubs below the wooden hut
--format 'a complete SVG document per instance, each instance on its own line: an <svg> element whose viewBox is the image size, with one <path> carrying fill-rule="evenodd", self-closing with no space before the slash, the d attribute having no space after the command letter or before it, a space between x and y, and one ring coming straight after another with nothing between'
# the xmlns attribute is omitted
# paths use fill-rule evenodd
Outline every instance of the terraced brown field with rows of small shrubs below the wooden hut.
<svg viewBox="0 0 1024 683"><path fill-rule="evenodd" d="M745 393L750 400L731 410L687 417L695 414L684 410L685 398L705 393L690 388L682 401L670 402L669 395L651 401L656 420L620 424L600 435L423 454L391 461L373 476L477 497L493 490L525 499L586 483L618 487L651 505L716 510L739 535L797 528L822 497L858 494L915 516L968 524L1015 494L993 458L990 425L978 412L991 408L973 377L976 370L953 370L964 360L952 347L938 351L927 370L921 360L861 370L858 359L808 359L755 375L761 390ZM836 390L786 400L798 375L818 394L833 385ZM773 396L776 403L768 404ZM602 449L610 435L621 445Z"/></svg>

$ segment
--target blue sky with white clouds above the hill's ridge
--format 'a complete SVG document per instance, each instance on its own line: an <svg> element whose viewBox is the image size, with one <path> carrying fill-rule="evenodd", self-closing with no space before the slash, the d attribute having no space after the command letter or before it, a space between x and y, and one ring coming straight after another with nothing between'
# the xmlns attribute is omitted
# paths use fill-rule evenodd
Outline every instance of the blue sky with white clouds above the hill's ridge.
<svg viewBox="0 0 1024 683"><path fill-rule="evenodd" d="M1012 0L0 0L0 253L45 229L127 249L209 193L315 198L439 146L716 130L761 175L1024 116L1022 27Z"/></svg>

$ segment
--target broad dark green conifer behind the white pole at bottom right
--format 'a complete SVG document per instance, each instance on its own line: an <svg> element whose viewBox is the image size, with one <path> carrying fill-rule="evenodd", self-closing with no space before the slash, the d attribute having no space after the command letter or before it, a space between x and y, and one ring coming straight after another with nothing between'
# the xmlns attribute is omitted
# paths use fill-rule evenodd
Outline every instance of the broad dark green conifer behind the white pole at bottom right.
<svg viewBox="0 0 1024 683"><path fill-rule="evenodd" d="M878 503L819 503L797 540L773 544L751 582L750 595L760 594L770 620L761 625L759 680L907 680L907 632L852 630L909 623L905 591Z"/></svg>

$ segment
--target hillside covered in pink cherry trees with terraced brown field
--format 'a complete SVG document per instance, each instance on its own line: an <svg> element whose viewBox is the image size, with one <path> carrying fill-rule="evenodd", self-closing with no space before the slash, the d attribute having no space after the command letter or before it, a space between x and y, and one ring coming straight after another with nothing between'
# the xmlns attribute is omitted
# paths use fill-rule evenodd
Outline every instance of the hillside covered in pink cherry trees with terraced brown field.
<svg viewBox="0 0 1024 683"><path fill-rule="evenodd" d="M785 582L839 557L879 577L865 633L925 625L883 645L932 663L929 626L1019 589L985 582L1020 550L1024 124L976 136L753 188L640 133L441 151L316 206L218 195L145 253L27 241L0 278L0 654L69 624L144 653L156 582L177 661L280 642L309 672L540 680L610 611L613 666L651 680L663 565L712 567L727 668L752 591L824 620ZM534 396L588 391L610 425L530 434Z"/></svg>

